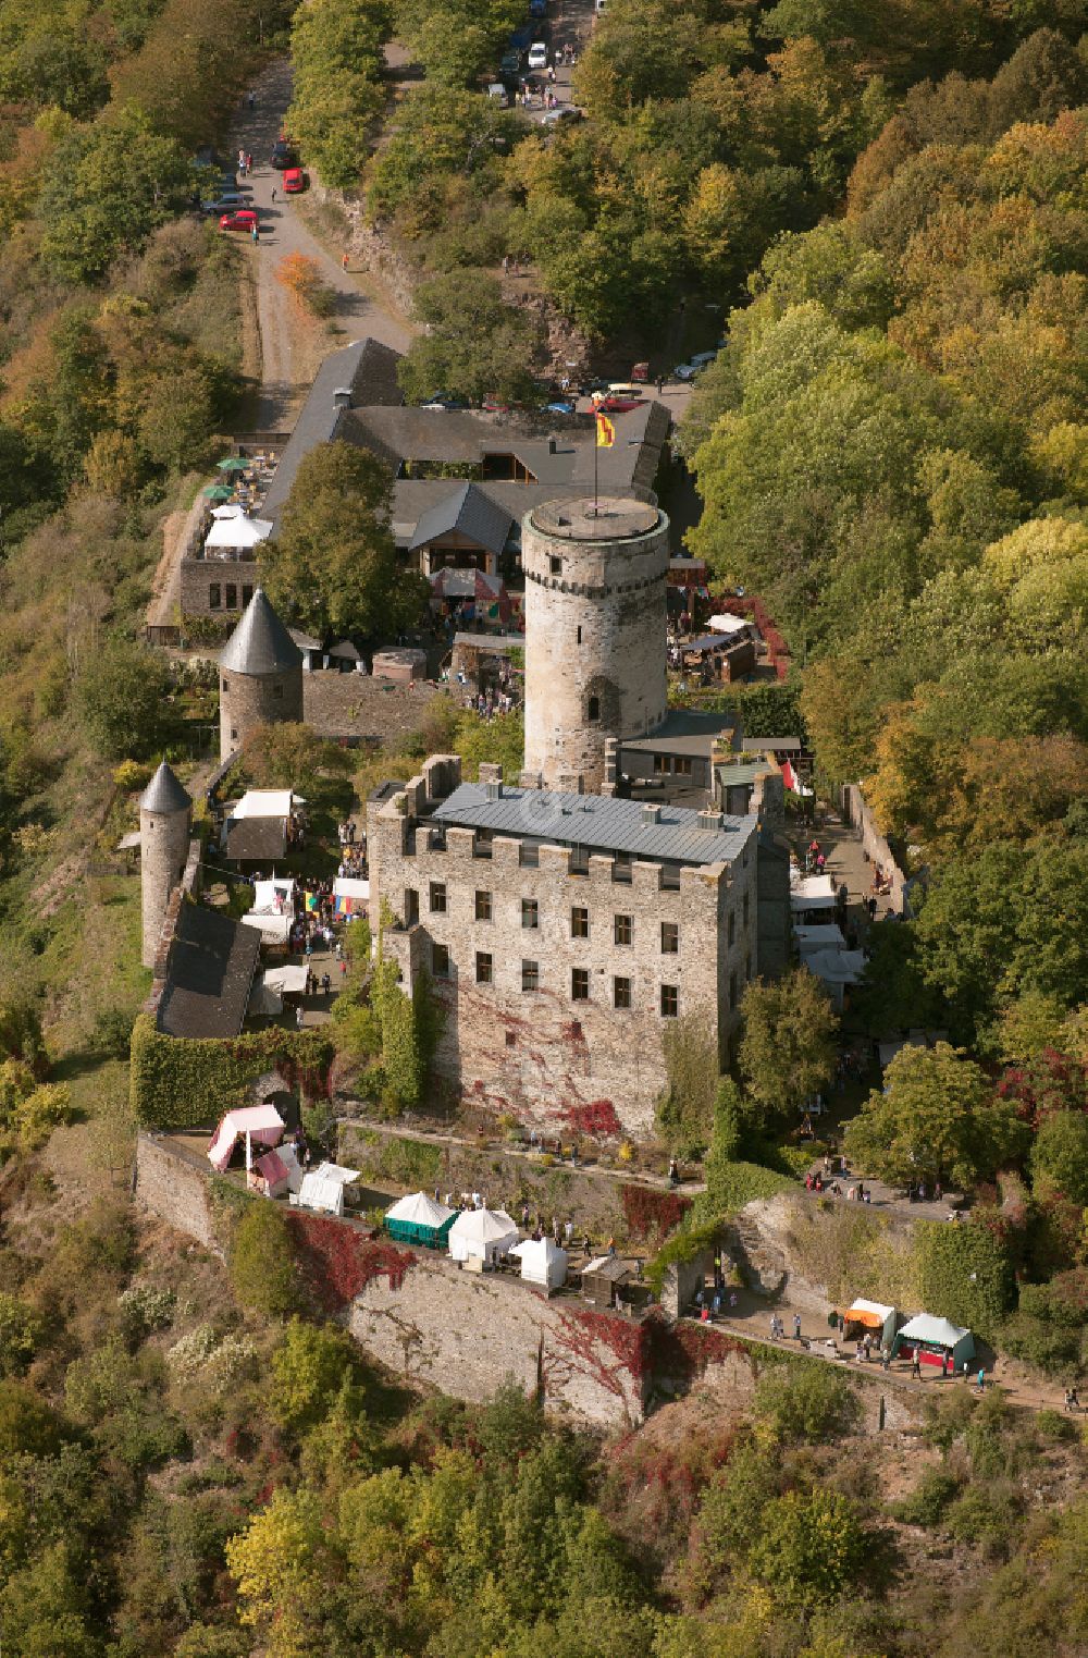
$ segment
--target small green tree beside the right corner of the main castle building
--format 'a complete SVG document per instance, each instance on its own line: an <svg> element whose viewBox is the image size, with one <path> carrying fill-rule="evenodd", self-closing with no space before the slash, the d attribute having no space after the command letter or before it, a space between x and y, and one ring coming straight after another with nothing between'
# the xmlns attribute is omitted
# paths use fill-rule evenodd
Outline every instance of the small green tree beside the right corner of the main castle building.
<svg viewBox="0 0 1088 1658"><path fill-rule="evenodd" d="M810 1094L835 1074L838 1018L828 996L803 967L765 983L747 985L740 998L740 1073L768 1126L790 1121Z"/></svg>

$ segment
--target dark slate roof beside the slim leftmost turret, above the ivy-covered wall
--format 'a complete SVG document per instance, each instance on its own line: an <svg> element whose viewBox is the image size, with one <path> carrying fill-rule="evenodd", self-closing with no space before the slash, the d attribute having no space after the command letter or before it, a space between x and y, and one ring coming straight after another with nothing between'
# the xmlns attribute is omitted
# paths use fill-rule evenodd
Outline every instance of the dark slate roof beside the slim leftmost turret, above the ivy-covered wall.
<svg viewBox="0 0 1088 1658"><path fill-rule="evenodd" d="M260 955L260 933L204 904L182 904L156 1025L167 1036L237 1036Z"/></svg>

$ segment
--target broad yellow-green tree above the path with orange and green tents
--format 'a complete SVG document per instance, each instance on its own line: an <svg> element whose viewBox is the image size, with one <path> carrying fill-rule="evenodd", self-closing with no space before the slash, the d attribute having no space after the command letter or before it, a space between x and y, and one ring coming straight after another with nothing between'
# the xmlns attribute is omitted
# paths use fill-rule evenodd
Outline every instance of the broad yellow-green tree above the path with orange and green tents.
<svg viewBox="0 0 1088 1658"><path fill-rule="evenodd" d="M1027 1129L1012 1104L995 1099L985 1073L959 1048L901 1048L846 1124L846 1152L858 1167L896 1185L926 1180L972 1185L1018 1162Z"/></svg>

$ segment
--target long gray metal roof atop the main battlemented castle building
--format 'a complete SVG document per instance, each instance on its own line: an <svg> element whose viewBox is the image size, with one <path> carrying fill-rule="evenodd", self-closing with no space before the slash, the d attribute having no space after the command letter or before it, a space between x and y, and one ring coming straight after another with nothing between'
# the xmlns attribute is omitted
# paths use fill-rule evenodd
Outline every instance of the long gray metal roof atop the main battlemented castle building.
<svg viewBox="0 0 1088 1658"><path fill-rule="evenodd" d="M699 822L699 812L682 806L656 811L657 822L648 822L641 801L508 784L502 786L498 797L492 797L487 784L462 783L436 807L434 819L515 839L553 841L591 852L629 852L631 857L671 864L732 862L755 826L755 817L722 817L720 827L712 829Z"/></svg>

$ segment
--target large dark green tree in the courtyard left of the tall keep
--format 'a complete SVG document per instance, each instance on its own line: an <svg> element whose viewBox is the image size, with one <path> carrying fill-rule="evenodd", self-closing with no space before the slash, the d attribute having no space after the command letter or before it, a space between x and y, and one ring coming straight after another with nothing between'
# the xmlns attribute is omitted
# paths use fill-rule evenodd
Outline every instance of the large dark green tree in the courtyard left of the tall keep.
<svg viewBox="0 0 1088 1658"><path fill-rule="evenodd" d="M303 456L258 557L268 597L308 632L389 638L421 617L427 585L397 559L391 489L389 471L354 444Z"/></svg>

